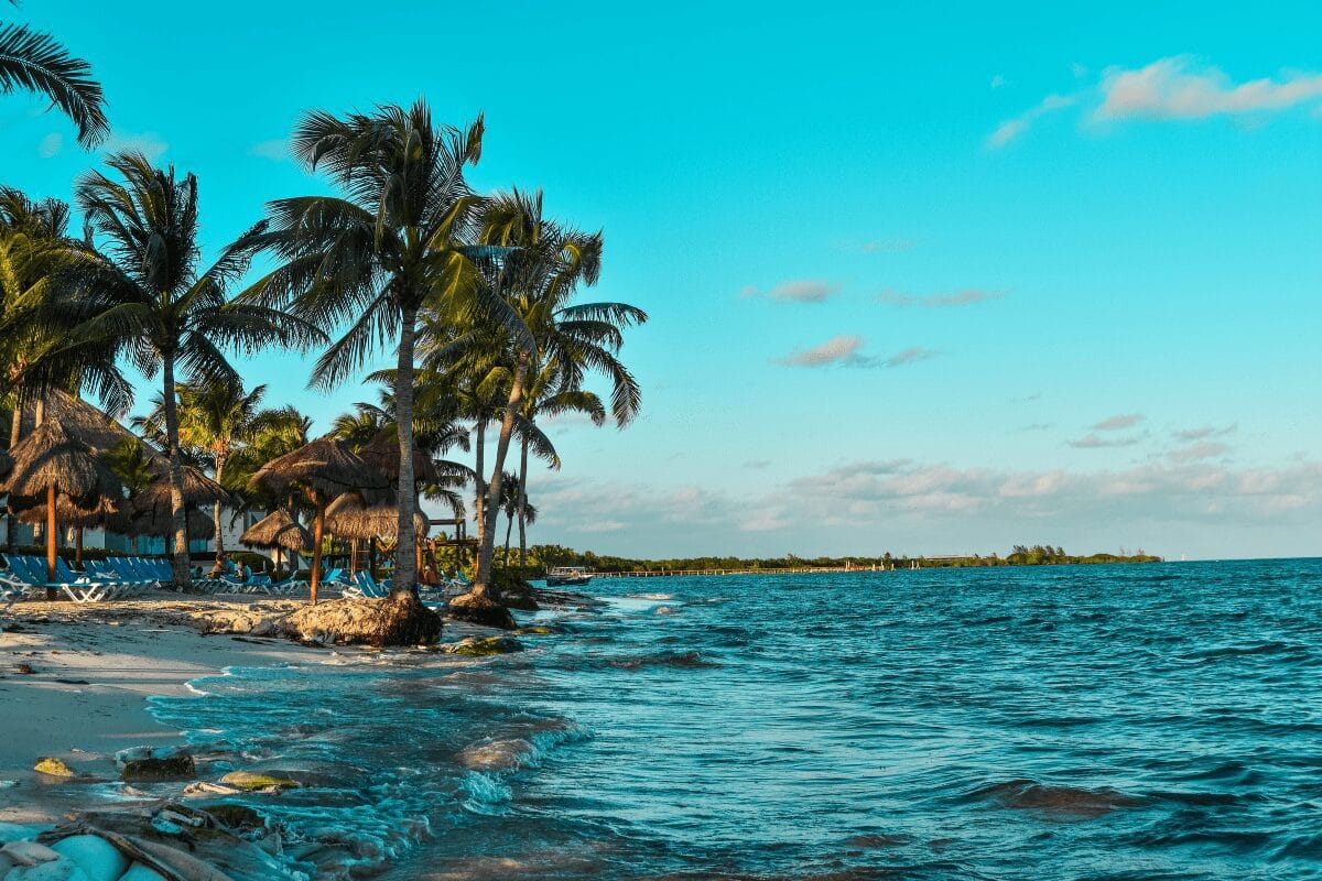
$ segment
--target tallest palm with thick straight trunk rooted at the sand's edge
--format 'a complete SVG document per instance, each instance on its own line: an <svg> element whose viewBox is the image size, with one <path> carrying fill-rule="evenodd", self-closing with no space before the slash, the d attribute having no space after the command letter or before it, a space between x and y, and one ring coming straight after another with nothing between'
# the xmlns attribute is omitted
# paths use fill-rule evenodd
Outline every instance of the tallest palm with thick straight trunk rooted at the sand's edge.
<svg viewBox="0 0 1322 881"><path fill-rule="evenodd" d="M317 362L312 383L330 387L377 345L398 339L394 423L399 427L399 548L394 590L414 589L414 343L424 309L471 313L473 268L464 235L479 198L464 166L481 156L483 120L464 132L432 123L423 100L408 108L336 118L311 112L293 132L295 157L329 172L344 195L268 205L259 246L282 264L246 295L288 304L321 326L349 322ZM492 299L488 304L500 309Z"/></svg>

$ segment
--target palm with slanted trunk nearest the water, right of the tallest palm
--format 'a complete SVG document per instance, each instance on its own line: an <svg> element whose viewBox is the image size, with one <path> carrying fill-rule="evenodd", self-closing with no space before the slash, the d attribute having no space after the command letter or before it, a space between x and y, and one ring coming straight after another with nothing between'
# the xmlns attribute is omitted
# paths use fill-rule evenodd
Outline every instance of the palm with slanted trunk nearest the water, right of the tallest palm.
<svg viewBox="0 0 1322 881"><path fill-rule="evenodd" d="M624 302L570 305L580 284L596 284L602 265L602 234L586 234L543 217L542 194L518 190L490 199L481 217L483 244L510 248L501 265L484 273L484 281L501 293L517 320L506 353L512 369L496 461L492 465L489 498L501 497L505 457L518 421L530 378L545 365L555 365L558 384L578 390L587 371L604 372L613 384L611 411L620 425L639 411L637 380L616 354L624 342L623 329L642 324L648 316ZM461 353L486 330L475 328L448 347ZM494 551L496 506L484 511L486 524L477 556L472 596L490 600L489 579ZM463 604L459 604L460 606ZM455 604L451 604L455 609Z"/></svg>

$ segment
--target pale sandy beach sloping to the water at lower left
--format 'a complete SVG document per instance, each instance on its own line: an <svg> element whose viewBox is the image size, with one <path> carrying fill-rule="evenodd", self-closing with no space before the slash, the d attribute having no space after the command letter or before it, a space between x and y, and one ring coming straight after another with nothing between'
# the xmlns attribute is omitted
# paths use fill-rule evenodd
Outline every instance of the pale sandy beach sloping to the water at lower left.
<svg viewBox="0 0 1322 881"><path fill-rule="evenodd" d="M48 823L79 807L70 794L79 787L52 786L67 781L34 771L38 757L61 758L78 773L110 781L118 777L116 752L181 744L178 732L152 719L148 696L190 695L189 680L230 666L320 660L332 651L274 638L204 635L186 623L200 610L255 605L251 597L160 593L95 606L22 602L0 614L0 822ZM446 638L456 635L448 629ZM20 672L22 664L33 672Z"/></svg>

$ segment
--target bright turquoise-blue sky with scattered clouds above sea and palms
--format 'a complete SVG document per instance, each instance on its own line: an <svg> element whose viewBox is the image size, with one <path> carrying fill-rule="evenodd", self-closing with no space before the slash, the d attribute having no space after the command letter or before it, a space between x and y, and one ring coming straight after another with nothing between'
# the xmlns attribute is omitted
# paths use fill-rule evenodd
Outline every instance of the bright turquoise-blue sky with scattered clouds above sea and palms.
<svg viewBox="0 0 1322 881"><path fill-rule="evenodd" d="M486 114L476 186L603 227L644 415L554 427L534 542L1322 552L1322 11L965 5L4 15L94 62L114 145L200 176L210 246L321 186L301 111L418 95ZM97 156L42 110L0 98L4 182L67 197ZM323 428L373 398L305 362L245 374Z"/></svg>

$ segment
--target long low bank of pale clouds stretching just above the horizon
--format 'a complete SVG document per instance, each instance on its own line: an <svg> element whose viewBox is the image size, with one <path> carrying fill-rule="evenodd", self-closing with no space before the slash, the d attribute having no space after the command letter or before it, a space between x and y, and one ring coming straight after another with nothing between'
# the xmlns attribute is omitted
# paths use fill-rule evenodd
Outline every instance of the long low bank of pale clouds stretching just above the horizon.
<svg viewBox="0 0 1322 881"><path fill-rule="evenodd" d="M858 461L730 490L534 477L533 542L633 556L1009 551L1050 540L1075 552L1317 549L1322 464L1232 468L1153 461L1118 470L995 469ZM612 527L596 531L599 527ZM616 528L617 527L617 528Z"/></svg>

